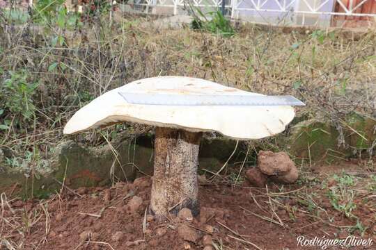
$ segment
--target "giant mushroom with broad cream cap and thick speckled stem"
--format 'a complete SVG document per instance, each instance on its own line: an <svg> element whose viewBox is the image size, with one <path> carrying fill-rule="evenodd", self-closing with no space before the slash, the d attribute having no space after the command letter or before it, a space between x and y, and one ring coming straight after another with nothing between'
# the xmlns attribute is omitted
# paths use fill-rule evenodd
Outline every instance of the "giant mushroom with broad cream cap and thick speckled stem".
<svg viewBox="0 0 376 250"><path fill-rule="evenodd" d="M145 78L110 90L72 116L63 133L73 134L121 122L155 126L154 175L150 213L163 219L182 208L198 214L198 150L201 135L216 131L235 140L260 139L285 130L295 112L291 106L156 105L127 102L120 94L255 96L212 81L182 76ZM158 99L158 98L157 98ZM184 103L183 103L184 104Z"/></svg>

